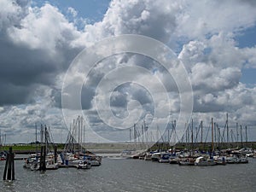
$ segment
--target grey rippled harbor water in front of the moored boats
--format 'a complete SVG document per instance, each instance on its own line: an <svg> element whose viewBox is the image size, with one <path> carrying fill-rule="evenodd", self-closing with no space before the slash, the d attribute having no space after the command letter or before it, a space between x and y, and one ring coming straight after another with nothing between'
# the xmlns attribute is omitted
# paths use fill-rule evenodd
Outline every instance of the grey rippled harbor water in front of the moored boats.
<svg viewBox="0 0 256 192"><path fill-rule="evenodd" d="M3 177L4 161L0 162ZM226 166L178 166L146 160L103 158L89 170L25 169L15 160L15 181L0 181L0 191L256 191L256 159Z"/></svg>

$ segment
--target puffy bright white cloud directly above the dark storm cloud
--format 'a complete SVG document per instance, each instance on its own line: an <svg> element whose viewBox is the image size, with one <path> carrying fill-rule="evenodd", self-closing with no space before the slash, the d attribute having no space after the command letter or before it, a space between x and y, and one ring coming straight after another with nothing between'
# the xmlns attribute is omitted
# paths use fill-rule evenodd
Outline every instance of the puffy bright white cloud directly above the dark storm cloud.
<svg viewBox="0 0 256 192"><path fill-rule="evenodd" d="M30 49L44 49L49 55L61 45L72 46L79 38L79 32L69 23L58 9L46 3L41 8L29 8L20 26L8 29L9 37L15 44L27 44Z"/></svg>

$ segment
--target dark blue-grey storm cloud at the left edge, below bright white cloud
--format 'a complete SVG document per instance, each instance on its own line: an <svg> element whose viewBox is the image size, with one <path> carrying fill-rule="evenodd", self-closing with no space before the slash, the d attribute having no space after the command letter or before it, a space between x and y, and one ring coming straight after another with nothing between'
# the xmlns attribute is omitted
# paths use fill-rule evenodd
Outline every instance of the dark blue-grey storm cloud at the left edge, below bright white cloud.
<svg viewBox="0 0 256 192"><path fill-rule="evenodd" d="M0 39L0 90L4 90L0 92L0 105L32 101L29 97L38 85L54 85L56 76L65 72L73 59L74 51L70 52L67 51L66 61L60 61L63 57L58 61L44 50L16 46Z"/></svg>

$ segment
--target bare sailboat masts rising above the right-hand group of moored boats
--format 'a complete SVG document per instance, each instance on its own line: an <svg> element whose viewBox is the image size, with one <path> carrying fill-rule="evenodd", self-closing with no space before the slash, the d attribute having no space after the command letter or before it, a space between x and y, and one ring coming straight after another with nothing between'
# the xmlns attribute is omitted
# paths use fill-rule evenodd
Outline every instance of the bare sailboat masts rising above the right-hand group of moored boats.
<svg viewBox="0 0 256 192"><path fill-rule="evenodd" d="M133 130L130 129L130 142L134 143L135 148L145 148L145 146L147 148L150 146L150 143L154 142L169 143L170 146L174 146L176 143L186 143L188 149L198 147L196 144L200 144L201 147L205 148L206 143L212 143L212 150L221 147L231 148L234 147L234 144L236 147L247 147L247 125L243 127L236 123L236 127L231 127L229 125L228 113L226 114L226 121L223 127L220 127L213 119L207 127L203 126L203 121L200 122L199 126L194 124L193 119L191 119L185 125L182 137L179 138L176 120L173 120L167 126L166 131L162 135L160 135L159 127L157 127L153 135L153 132L149 131L148 125L143 121L141 130L136 124L133 126Z"/></svg>

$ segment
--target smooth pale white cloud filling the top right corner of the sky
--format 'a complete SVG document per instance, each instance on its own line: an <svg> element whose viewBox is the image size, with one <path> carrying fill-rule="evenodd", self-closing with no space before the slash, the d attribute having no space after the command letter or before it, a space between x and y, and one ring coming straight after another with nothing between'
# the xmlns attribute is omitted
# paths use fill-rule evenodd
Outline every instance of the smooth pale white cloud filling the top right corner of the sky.
<svg viewBox="0 0 256 192"><path fill-rule="evenodd" d="M255 5L246 1L184 1L177 35L201 39L218 32L238 32L255 24Z"/></svg>

